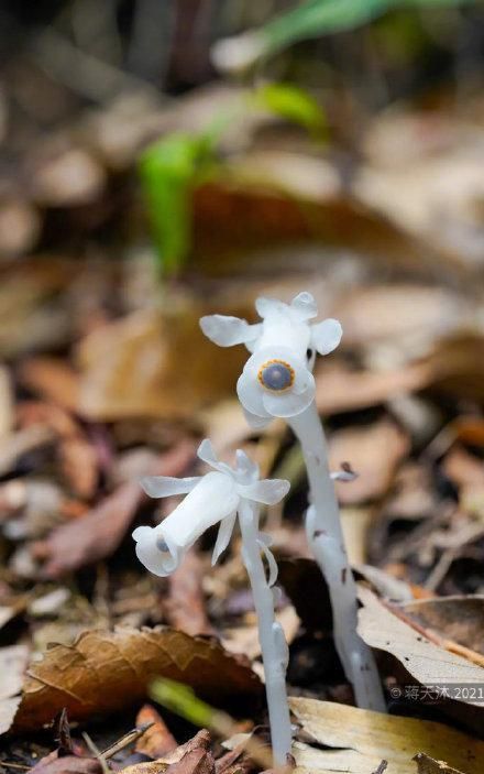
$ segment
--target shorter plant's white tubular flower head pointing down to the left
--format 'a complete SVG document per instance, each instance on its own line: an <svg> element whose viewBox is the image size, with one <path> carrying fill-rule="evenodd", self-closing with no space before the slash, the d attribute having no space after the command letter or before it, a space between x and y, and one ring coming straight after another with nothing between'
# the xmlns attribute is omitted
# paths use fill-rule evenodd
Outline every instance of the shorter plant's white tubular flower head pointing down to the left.
<svg viewBox="0 0 484 774"><path fill-rule="evenodd" d="M213 470L195 478L151 476L141 480L152 498L187 495L161 524L140 526L133 532L138 558L151 573L162 577L178 567L184 553L206 530L220 523L212 556L215 564L229 544L242 500L272 505L289 490L288 481L260 480L258 467L240 449L235 468L219 462L208 439L200 444L198 456Z"/></svg>

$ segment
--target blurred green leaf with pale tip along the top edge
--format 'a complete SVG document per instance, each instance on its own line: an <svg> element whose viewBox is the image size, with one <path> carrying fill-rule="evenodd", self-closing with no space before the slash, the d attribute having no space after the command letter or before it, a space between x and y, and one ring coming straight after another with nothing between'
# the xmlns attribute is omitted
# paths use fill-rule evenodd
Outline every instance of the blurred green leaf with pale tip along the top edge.
<svg viewBox="0 0 484 774"><path fill-rule="evenodd" d="M397 9L444 8L481 0L307 0L257 30L219 41L213 59L222 69L248 67L293 43L353 30Z"/></svg>

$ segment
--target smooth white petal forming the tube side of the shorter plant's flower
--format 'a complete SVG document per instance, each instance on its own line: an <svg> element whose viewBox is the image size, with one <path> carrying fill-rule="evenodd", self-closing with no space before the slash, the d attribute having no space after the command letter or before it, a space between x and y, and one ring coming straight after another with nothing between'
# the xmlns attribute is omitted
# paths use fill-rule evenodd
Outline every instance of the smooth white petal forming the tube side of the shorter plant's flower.
<svg viewBox="0 0 484 774"><path fill-rule="evenodd" d="M239 504L232 477L209 472L160 525L168 543L187 548L209 526L226 519Z"/></svg>

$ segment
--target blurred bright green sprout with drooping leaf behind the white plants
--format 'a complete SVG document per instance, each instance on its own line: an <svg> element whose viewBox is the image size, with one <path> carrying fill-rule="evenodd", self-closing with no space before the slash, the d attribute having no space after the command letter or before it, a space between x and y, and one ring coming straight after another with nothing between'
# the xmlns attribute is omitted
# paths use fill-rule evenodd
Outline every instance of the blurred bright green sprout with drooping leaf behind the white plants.
<svg viewBox="0 0 484 774"><path fill-rule="evenodd" d="M220 171L220 139L239 116L261 108L301 126L315 140L324 137L324 112L314 97L289 84L265 84L219 112L204 132L169 134L143 151L140 178L163 276L179 272L190 251L193 193Z"/></svg>

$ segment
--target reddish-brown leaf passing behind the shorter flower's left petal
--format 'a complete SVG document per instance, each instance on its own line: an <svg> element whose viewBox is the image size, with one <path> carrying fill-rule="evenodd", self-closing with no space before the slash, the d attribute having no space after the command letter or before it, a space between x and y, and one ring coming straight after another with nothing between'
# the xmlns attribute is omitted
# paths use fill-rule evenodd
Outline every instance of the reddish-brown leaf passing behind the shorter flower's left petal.
<svg viewBox="0 0 484 774"><path fill-rule="evenodd" d="M153 470L156 476L179 476L191 461L194 446L190 441L161 455ZM138 481L121 483L89 513L63 524L46 541L33 546L34 556L44 559L42 574L48 578L99 562L110 556L120 545L134 514L146 499Z"/></svg>

